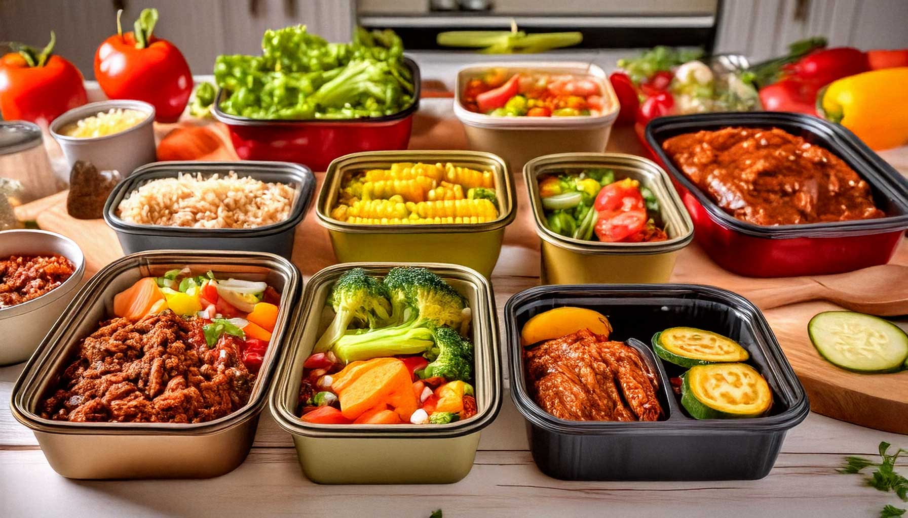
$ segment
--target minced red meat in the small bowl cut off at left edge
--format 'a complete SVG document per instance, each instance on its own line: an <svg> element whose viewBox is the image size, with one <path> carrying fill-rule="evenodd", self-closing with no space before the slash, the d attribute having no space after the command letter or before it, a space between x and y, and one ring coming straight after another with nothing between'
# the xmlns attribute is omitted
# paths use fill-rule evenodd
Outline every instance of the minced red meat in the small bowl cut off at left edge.
<svg viewBox="0 0 908 518"><path fill-rule="evenodd" d="M75 267L59 255L0 259L0 308L38 298L69 279Z"/></svg>

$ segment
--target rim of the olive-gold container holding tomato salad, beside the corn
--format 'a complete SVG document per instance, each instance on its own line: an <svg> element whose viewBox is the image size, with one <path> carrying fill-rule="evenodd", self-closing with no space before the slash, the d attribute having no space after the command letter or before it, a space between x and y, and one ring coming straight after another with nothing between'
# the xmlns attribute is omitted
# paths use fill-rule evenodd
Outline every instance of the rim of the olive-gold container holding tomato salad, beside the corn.
<svg viewBox="0 0 908 518"><path fill-rule="evenodd" d="M538 182L539 175L546 171L540 170L548 167L575 169L585 167L585 164L590 163L595 163L599 167L636 169L654 176L659 184L656 191L653 191L659 202L659 216L666 221L674 220L678 227L678 235L665 241L604 243L568 238L549 229L545 222L545 210L541 209L542 201L539 197ZM530 210L533 211L533 220L536 222L536 233L539 239L558 248L587 255L652 255L683 249L694 239L694 223L690 220L690 214L687 213L668 174L656 162L644 157L613 152L568 152L543 155L528 161L523 166L523 176L529 192Z"/></svg>

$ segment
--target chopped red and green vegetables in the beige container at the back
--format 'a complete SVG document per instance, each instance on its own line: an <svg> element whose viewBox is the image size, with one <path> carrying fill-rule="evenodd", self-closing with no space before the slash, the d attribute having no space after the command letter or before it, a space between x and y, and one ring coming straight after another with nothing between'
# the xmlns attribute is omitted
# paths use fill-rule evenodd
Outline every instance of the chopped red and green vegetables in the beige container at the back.
<svg viewBox="0 0 908 518"><path fill-rule="evenodd" d="M576 117L606 110L601 86L592 76L521 72L492 68L469 80L463 105L495 117Z"/></svg>

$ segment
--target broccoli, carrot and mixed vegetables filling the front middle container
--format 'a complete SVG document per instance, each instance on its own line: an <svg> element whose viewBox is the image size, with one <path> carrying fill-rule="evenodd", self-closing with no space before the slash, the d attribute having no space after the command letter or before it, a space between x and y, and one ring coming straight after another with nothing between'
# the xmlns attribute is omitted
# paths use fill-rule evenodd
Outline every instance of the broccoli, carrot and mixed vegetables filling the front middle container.
<svg viewBox="0 0 908 518"><path fill-rule="evenodd" d="M476 415L469 306L438 275L350 269L328 304L334 317L303 364L303 421L445 425Z"/></svg>

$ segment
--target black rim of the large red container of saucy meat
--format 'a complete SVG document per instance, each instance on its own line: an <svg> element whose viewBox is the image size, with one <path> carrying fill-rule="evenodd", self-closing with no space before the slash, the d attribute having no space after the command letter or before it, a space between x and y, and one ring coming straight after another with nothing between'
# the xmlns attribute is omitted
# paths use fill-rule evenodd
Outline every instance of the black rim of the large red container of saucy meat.
<svg viewBox="0 0 908 518"><path fill-rule="evenodd" d="M715 201L678 170L675 161L662 149L666 132L679 134L701 130L716 130L729 126L770 127L778 124L797 124L804 131L812 132L834 143L828 149L841 157L864 181L890 195L902 214L873 220L847 220L803 225L761 226L738 220L722 210ZM853 132L812 115L794 112L720 112L695 113L657 117L646 124L646 143L656 156L666 164L666 170L685 187L706 209L711 220L722 227L748 236L765 239L838 238L854 235L879 234L908 229L908 181L879 155L867 147ZM826 148L822 144L817 144ZM856 167L855 167L856 166Z"/></svg>

